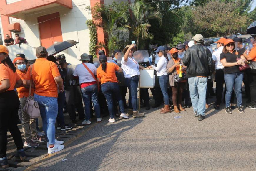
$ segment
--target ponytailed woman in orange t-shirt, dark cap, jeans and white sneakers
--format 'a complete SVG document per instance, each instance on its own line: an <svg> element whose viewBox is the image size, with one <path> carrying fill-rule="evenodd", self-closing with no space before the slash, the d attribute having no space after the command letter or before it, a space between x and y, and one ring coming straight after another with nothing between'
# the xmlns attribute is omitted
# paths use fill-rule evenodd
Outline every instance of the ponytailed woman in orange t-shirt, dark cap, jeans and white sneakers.
<svg viewBox="0 0 256 171"><path fill-rule="evenodd" d="M129 117L125 114L124 111L124 102L121 97L121 92L117 83L117 77L115 73L116 71L122 73L122 68L117 66L115 63L108 63L106 55L99 55L99 62L100 66L99 68L97 68L97 78L101 83L101 91L107 100L110 114L109 122L113 123L116 121L114 117L113 96L117 99L119 103L119 108L121 111L120 117L128 119Z"/></svg>

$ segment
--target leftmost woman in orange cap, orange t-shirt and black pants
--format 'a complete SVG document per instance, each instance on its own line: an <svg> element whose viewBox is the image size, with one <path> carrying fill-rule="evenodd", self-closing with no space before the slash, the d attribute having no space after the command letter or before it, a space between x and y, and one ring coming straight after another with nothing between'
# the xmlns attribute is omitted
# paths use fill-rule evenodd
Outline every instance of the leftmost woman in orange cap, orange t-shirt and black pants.
<svg viewBox="0 0 256 171"><path fill-rule="evenodd" d="M8 130L11 132L17 147L15 157L19 157L21 160L26 159L21 133L17 126L20 102L14 91L14 88L23 83L8 54L8 49L0 45L0 167L2 168L9 167L6 157Z"/></svg>

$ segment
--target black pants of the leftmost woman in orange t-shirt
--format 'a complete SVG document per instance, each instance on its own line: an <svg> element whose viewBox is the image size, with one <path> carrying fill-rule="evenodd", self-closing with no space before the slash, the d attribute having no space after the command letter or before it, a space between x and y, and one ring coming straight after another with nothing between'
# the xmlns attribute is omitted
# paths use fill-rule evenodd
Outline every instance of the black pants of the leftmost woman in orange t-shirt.
<svg viewBox="0 0 256 171"><path fill-rule="evenodd" d="M0 93L0 158L6 157L8 130L17 150L23 149L21 133L17 126L19 104L19 98L13 90Z"/></svg>

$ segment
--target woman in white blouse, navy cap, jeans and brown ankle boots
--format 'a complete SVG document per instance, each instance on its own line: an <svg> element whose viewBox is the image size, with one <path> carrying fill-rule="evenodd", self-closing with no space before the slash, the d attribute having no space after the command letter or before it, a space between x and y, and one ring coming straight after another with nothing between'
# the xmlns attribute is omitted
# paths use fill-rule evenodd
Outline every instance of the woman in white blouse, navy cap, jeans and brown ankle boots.
<svg viewBox="0 0 256 171"><path fill-rule="evenodd" d="M160 113L165 114L165 113L171 112L169 108L169 96L167 91L167 83L169 81L169 75L166 72L166 67L169 60L168 60L167 54L165 53L164 46L159 46L155 52L157 52L158 56L160 56L157 66L151 65L147 68L154 68L154 70L157 71L160 88L164 96L164 109L161 110Z"/></svg>

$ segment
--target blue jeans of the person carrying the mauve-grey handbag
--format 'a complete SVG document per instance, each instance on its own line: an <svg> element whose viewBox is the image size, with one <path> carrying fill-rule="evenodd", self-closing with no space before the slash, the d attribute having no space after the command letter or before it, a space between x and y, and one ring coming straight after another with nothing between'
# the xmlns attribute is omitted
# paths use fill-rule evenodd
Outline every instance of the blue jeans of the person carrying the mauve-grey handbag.
<svg viewBox="0 0 256 171"><path fill-rule="evenodd" d="M50 145L55 144L55 122L58 115L58 101L56 97L46 97L34 94L34 100L38 102L43 130Z"/></svg>

